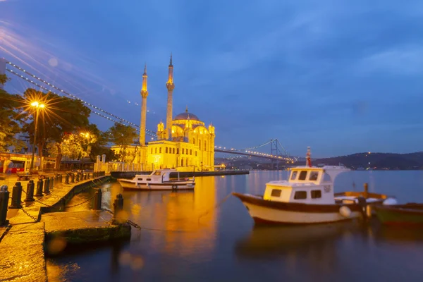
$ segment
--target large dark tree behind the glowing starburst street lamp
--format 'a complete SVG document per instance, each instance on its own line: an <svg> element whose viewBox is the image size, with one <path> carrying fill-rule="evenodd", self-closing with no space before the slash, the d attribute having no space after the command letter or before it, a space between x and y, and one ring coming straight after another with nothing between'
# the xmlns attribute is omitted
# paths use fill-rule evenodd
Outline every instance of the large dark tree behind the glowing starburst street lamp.
<svg viewBox="0 0 423 282"><path fill-rule="evenodd" d="M37 128L38 152L39 156L42 157L44 145L48 142L55 142L57 149L56 169L59 169L62 158L61 142L63 142L63 138L66 133L75 133L82 128L86 128L89 124L88 117L91 110L78 99L61 97L51 92L39 92L32 88L25 90L24 97L28 102L38 101L45 105L44 109L39 111ZM34 118L36 110L30 106L27 109L32 112L30 116L32 122L27 123L24 126L24 130L27 131L32 139L35 132Z"/></svg>

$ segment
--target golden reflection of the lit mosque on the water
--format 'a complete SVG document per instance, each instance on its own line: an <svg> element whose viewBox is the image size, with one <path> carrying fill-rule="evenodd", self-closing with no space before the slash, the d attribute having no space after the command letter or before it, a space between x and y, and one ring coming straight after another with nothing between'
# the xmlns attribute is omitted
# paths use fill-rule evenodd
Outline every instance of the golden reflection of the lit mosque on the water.
<svg viewBox="0 0 423 282"><path fill-rule="evenodd" d="M113 209L116 195L122 193L129 219L156 230L151 244L164 248L164 252L178 252L181 256L209 252L214 249L216 233L215 178L195 180L195 191L180 192L123 192L115 183L103 193L102 204Z"/></svg>

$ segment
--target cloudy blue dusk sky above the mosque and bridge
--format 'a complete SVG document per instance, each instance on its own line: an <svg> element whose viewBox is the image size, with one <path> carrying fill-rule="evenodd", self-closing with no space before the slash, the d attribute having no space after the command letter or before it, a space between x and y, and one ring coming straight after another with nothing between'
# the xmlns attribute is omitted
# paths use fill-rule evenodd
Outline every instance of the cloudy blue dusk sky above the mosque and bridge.
<svg viewBox="0 0 423 282"><path fill-rule="evenodd" d="M421 0L0 0L0 57L62 90L139 124L147 63L157 130L172 52L174 116L300 157L422 151L422 30Z"/></svg>

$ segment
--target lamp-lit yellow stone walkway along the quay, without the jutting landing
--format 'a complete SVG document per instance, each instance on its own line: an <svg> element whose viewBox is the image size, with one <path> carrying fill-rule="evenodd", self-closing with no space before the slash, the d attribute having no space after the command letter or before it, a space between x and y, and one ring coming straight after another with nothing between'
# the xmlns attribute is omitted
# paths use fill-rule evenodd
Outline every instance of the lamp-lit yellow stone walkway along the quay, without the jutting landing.
<svg viewBox="0 0 423 282"><path fill-rule="evenodd" d="M34 180L37 180L37 178L34 178ZM10 192L9 204L11 203L13 185L16 181L17 177L13 175L6 176L5 180L0 180L0 185L8 185ZM68 185L59 184L51 189L50 195L35 197L39 202L32 202L27 207L23 203L23 209L8 210L7 219L9 220L9 226L8 228L0 229L0 238L4 234L0 241L0 281L47 281L44 259L44 235L46 229L44 216L48 215L43 215L41 222L35 222L34 219L39 219L42 207L57 204L65 196L70 200L73 197L72 191L74 187L90 181L92 179ZM99 185L101 184L99 178L94 181ZM20 181L20 183L22 183L23 190L26 190L28 181ZM23 192L22 200L25 200L25 197L26 195ZM87 221L89 220L90 218L87 218ZM51 226L50 223L47 223L47 225Z"/></svg>

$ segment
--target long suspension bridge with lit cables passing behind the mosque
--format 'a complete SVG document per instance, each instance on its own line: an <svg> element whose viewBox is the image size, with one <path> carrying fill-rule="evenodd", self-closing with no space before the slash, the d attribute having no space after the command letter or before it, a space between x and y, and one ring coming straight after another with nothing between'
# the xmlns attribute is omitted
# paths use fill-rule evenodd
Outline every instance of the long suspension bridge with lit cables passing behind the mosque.
<svg viewBox="0 0 423 282"><path fill-rule="evenodd" d="M6 68L4 70L0 69L0 73L2 73L2 71L8 71L8 73L11 73L13 76L16 76L20 78L21 80L31 83L32 85L39 87L39 89L57 94L59 96L67 96L67 97L70 97L71 99L80 100L80 102L82 102L83 104L85 104L85 106L91 109L93 114L96 114L97 116L101 116L102 118L105 118L108 121L112 121L114 123L122 123L124 125L131 125L138 132L140 131L140 125L132 123L126 120L125 118L116 116L115 114L111 114L109 111L101 109L99 106L95 106L94 104L90 102L80 99L80 97L77 97L74 94L68 93L65 90L60 89L53 83L50 83L42 78L39 78L39 76L30 73L29 71L25 70L25 68L21 68L15 63L11 63L10 61L7 61L6 59L0 59L0 61L1 60L3 60L3 63L6 65ZM152 140L157 140L157 134L153 130L147 129L145 134L151 136ZM269 145L270 145L270 154L259 152L257 150L259 148L265 148L266 146L269 146ZM289 163L293 164L293 162L296 161L296 159L294 157L291 157L286 151L286 149L283 148L283 146L281 145L281 142L279 142L278 139L271 139L267 142L264 142L261 145L246 148L246 149L235 149L233 147L231 148L228 147L227 149L226 147L215 146L214 152L220 152L220 153L226 153L226 154L238 154L238 155L243 155L248 157L258 157L262 159L270 159L272 163L276 162L276 164L279 164L279 162L284 162L286 164L289 164Z"/></svg>

